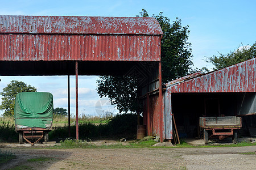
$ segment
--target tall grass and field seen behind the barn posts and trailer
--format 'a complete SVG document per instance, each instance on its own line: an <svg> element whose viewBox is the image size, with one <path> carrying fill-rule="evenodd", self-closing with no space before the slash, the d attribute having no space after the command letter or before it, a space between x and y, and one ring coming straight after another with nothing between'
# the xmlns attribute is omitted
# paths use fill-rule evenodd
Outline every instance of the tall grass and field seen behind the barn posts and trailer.
<svg viewBox="0 0 256 170"><path fill-rule="evenodd" d="M81 139L100 137L109 135L112 129L108 123L112 120L113 114L104 114L103 116L88 116L82 114L79 117L79 131ZM135 120L135 119L134 119ZM73 124L75 116L71 116L71 137L76 137L76 126ZM0 117L0 142L18 142L18 133L15 131L14 117ZM49 139L68 137L68 117L53 115L53 130L49 133Z"/></svg>

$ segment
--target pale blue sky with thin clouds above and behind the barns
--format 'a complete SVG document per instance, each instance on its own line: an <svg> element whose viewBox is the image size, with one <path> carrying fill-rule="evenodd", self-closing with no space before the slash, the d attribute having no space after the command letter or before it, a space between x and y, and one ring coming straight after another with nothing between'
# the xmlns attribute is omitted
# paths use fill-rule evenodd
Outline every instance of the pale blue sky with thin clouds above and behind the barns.
<svg viewBox="0 0 256 170"><path fill-rule="evenodd" d="M242 45L256 41L256 1L2 1L0 15L57 16L135 16L146 9L148 14L167 16L171 21L181 19L189 25L188 42L192 44L193 67L213 65L206 57L227 54ZM67 76L0 76L0 91L11 80L30 84L38 91L51 92L53 105L67 108ZM98 76L79 76L79 114L100 116L104 111L117 113L108 99L97 94ZM1 97L1 96L0 96ZM3 111L2 111L3 112ZM2 113L0 111L0 114ZM71 76L71 114L75 114L75 76Z"/></svg>

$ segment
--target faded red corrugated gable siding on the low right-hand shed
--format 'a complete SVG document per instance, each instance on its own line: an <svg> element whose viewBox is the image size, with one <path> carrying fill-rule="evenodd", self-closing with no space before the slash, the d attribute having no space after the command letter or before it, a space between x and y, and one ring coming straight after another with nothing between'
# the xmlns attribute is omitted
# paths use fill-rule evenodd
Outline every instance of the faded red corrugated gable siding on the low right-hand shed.
<svg viewBox="0 0 256 170"><path fill-rule="evenodd" d="M256 92L256 58L174 84L179 92Z"/></svg>

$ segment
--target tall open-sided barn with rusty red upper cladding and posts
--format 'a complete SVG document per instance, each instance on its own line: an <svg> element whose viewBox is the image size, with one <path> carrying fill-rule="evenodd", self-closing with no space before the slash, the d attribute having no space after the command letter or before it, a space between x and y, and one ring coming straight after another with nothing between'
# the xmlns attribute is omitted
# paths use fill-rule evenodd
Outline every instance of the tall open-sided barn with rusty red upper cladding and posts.
<svg viewBox="0 0 256 170"><path fill-rule="evenodd" d="M0 75L67 75L68 84L76 75L76 117L78 75L136 76L139 96L158 91L160 99L162 35L155 18L1 15ZM163 117L158 99L154 119Z"/></svg>

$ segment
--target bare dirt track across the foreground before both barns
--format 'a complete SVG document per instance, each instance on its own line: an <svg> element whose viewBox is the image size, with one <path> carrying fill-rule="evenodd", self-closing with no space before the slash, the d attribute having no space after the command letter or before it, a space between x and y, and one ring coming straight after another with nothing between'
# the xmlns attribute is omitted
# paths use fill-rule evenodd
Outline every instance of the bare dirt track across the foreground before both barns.
<svg viewBox="0 0 256 170"><path fill-rule="evenodd" d="M217 148L31 149L1 148L17 158L0 169L254 169L256 146ZM27 159L48 157L46 162Z"/></svg>

